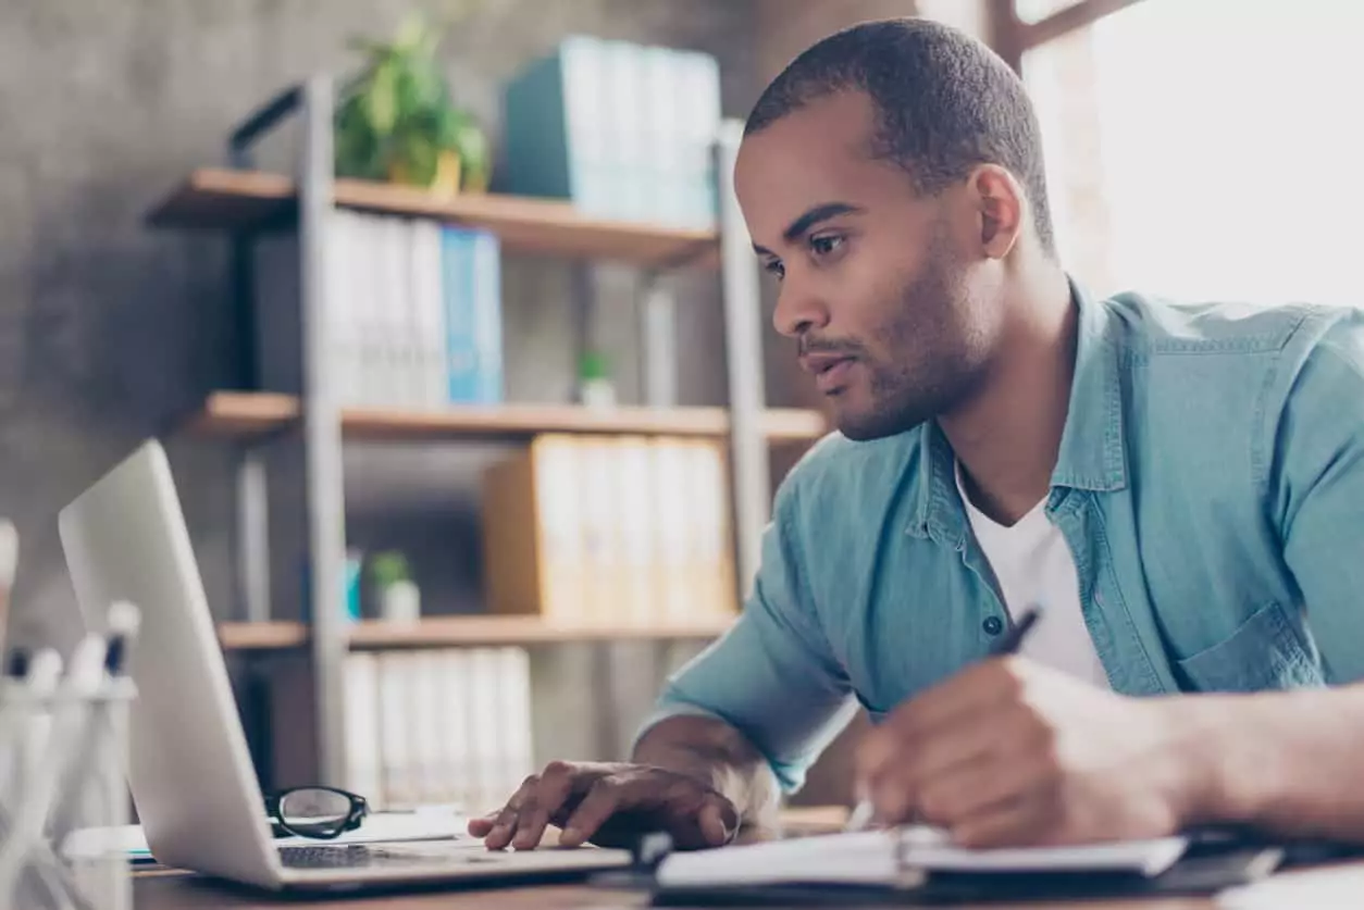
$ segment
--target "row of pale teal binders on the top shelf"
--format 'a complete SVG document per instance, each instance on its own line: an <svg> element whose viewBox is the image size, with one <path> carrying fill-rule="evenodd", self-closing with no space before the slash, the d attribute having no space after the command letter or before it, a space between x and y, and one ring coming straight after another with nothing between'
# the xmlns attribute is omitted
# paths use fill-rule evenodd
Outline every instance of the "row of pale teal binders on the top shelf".
<svg viewBox="0 0 1364 910"><path fill-rule="evenodd" d="M715 226L715 57L570 35L507 86L505 106L509 192L602 218Z"/></svg>

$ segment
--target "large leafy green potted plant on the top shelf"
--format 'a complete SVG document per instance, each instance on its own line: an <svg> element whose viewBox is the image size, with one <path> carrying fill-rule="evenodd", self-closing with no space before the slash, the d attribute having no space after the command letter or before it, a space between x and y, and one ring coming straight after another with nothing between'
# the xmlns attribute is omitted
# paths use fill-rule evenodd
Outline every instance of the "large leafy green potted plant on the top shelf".
<svg viewBox="0 0 1364 910"><path fill-rule="evenodd" d="M487 190L487 135L450 101L435 50L439 31L421 16L393 41L353 42L367 63L345 86L336 112L336 172L441 194Z"/></svg>

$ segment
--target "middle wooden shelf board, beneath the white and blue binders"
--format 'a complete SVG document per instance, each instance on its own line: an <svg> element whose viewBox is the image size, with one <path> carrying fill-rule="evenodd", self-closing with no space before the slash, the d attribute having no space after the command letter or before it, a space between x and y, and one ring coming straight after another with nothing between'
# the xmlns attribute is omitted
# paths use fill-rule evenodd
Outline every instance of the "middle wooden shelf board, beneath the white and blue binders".
<svg viewBox="0 0 1364 910"><path fill-rule="evenodd" d="M254 392L217 392L190 422L191 431L209 437L252 437L285 428L299 419L292 396ZM648 435L708 435L728 432L723 408L589 409L574 405L512 404L449 407L439 411L348 408L341 426L355 438L460 437L516 439L539 432L603 432ZM762 415L768 439L817 439L827 432L817 411L773 408Z"/></svg>

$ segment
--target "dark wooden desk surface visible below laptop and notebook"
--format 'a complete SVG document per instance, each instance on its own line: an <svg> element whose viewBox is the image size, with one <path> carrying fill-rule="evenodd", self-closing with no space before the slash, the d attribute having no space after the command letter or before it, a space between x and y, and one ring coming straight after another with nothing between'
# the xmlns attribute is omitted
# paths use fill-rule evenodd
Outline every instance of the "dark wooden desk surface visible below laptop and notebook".
<svg viewBox="0 0 1364 910"><path fill-rule="evenodd" d="M555 910L593 907L595 910L636 910L648 906L648 896L637 891L604 891L585 885L544 885L539 888L453 888L389 896L330 898L299 903L259 891L224 887L218 883L181 872L139 875L134 879L134 910L199 910L205 907L237 910L277 910L281 906L306 906L310 910ZM289 903L285 903L289 900ZM958 905L971 910L968 905ZM1173 898L1162 900L1099 900L1067 903L1065 910L1215 910L1210 899ZM1056 907L1045 905L975 905L975 910L1023 910Z"/></svg>

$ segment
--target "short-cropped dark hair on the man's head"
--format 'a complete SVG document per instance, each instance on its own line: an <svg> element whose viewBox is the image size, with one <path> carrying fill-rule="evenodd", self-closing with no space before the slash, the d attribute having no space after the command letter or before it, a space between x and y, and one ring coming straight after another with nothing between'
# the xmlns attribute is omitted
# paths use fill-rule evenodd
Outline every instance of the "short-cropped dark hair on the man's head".
<svg viewBox="0 0 1364 910"><path fill-rule="evenodd" d="M1037 113L998 55L929 19L863 22L792 60L762 91L743 135L839 91L870 96L873 154L904 168L919 192L937 192L979 164L1007 168L1026 188L1042 248L1056 255Z"/></svg>

